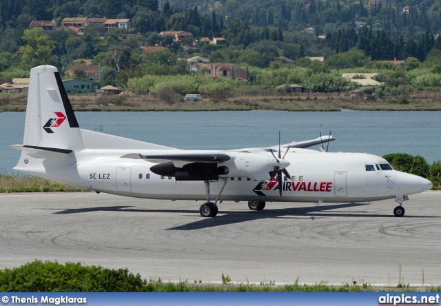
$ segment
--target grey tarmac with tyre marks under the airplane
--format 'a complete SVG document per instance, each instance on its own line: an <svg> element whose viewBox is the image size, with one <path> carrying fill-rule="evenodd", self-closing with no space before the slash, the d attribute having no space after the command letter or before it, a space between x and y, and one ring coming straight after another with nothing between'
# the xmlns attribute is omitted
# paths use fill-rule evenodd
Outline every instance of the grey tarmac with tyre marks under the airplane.
<svg viewBox="0 0 441 306"><path fill-rule="evenodd" d="M127 268L143 278L220 283L440 285L441 192L375 203L224 202L92 192L0 194L0 268L35 259Z"/></svg>

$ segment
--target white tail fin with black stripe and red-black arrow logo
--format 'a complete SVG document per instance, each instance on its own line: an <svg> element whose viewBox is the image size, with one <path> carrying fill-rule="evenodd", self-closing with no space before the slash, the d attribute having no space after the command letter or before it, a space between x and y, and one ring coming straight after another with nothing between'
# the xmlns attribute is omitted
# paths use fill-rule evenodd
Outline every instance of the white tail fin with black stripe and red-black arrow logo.
<svg viewBox="0 0 441 306"><path fill-rule="evenodd" d="M30 70L23 145L83 149L78 121L57 68Z"/></svg>

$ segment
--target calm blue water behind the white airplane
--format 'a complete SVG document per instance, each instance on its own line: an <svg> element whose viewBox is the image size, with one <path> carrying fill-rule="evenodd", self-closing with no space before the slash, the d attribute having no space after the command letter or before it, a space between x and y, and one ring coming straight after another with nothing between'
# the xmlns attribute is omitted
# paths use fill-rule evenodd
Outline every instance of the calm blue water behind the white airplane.
<svg viewBox="0 0 441 306"><path fill-rule="evenodd" d="M81 128L181 149L267 147L332 132L331 152L420 154L441 158L441 112L76 112ZM0 170L12 171L24 112L0 113ZM313 147L317 149L318 147Z"/></svg>

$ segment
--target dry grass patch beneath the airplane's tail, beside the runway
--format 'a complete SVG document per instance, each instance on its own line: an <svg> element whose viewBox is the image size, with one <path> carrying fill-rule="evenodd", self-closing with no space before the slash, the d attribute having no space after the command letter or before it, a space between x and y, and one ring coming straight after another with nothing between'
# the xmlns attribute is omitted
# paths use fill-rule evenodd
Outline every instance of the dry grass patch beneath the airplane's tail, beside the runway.
<svg viewBox="0 0 441 306"><path fill-rule="evenodd" d="M0 172L0 193L2 192L83 192L89 191L72 185L41 179L32 175Z"/></svg>

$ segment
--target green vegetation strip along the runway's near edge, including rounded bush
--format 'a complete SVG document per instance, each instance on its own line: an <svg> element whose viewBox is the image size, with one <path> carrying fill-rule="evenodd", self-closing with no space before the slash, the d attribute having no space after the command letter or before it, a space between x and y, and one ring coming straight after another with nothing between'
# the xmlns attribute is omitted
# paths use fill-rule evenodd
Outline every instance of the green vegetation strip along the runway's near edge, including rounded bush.
<svg viewBox="0 0 441 306"><path fill-rule="evenodd" d="M0 292L440 292L441 287L371 287L367 283L340 286L301 285L298 278L294 284L282 286L261 282L231 283L229 276L222 274L221 285L199 281L165 283L161 278L148 281L127 269L107 269L101 266L85 266L81 263L33 261L14 269L0 270Z"/></svg>

